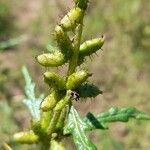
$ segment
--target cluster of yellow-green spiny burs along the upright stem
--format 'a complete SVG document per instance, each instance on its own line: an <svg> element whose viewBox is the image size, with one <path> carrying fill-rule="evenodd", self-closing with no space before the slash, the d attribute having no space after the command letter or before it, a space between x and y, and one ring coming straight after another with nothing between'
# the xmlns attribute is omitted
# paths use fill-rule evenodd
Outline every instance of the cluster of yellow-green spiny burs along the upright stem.
<svg viewBox="0 0 150 150"><path fill-rule="evenodd" d="M104 37L80 44L88 1L74 1L75 7L55 27L57 47L50 53L37 56L38 63L44 67L59 67L68 63L68 73L66 77L51 71L44 73L44 81L51 89L50 94L41 103L41 119L32 120L32 130L24 133L22 139L16 137L16 141L20 143L50 141L51 138L63 136L63 127L72 100L77 100L79 97L95 97L100 92L96 86L85 83L91 73L84 69L79 70L77 67L85 62L87 56L101 49Z"/></svg>

